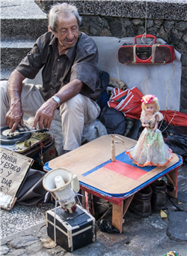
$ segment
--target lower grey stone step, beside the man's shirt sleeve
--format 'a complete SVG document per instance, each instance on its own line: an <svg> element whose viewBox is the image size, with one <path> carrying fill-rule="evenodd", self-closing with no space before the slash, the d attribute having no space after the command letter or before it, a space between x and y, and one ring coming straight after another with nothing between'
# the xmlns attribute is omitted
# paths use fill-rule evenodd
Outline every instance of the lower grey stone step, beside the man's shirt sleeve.
<svg viewBox="0 0 187 256"><path fill-rule="evenodd" d="M34 46L31 39L4 39L0 41L0 80L7 80L10 73Z"/></svg>

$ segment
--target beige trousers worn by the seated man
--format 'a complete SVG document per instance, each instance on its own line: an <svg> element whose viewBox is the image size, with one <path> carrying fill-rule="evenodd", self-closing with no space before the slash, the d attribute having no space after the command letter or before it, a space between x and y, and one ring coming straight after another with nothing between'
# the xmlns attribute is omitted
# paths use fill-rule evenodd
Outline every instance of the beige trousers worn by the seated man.
<svg viewBox="0 0 187 256"><path fill-rule="evenodd" d="M45 102L41 88L42 86L23 83L21 101L22 110L26 115L35 116L37 110ZM10 108L7 81L1 81L0 107L0 126L2 126ZM98 104L81 94L61 104L60 110L55 110L50 131L55 138L58 155L63 154L64 150L73 150L81 145L84 125L96 120L99 112Z"/></svg>

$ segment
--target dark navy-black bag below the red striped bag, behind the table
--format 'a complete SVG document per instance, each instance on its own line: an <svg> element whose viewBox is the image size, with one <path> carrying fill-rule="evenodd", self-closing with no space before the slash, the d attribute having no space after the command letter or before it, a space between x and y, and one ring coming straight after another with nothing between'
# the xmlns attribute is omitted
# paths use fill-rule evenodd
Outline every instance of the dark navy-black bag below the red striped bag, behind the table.
<svg viewBox="0 0 187 256"><path fill-rule="evenodd" d="M99 120L105 125L108 134L124 135L126 120L120 111L106 105L100 113Z"/></svg>

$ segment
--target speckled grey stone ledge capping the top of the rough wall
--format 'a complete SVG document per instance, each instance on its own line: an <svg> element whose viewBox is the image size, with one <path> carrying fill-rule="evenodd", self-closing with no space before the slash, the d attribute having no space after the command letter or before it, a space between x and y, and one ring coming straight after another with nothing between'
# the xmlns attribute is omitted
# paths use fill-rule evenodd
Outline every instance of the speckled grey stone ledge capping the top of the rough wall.
<svg viewBox="0 0 187 256"><path fill-rule="evenodd" d="M187 20L186 0L34 0L45 13L55 3L67 2L76 5L80 15L99 15L101 17L133 17L145 16L147 2L148 19ZM172 17L172 19L171 19Z"/></svg>

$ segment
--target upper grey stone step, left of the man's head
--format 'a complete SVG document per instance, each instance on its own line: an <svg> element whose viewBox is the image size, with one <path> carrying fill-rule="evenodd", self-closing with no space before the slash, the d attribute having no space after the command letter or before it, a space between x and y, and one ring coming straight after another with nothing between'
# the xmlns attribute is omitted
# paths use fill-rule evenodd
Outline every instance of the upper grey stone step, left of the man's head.
<svg viewBox="0 0 187 256"><path fill-rule="evenodd" d="M1 38L34 38L47 31L47 17L33 0L1 0Z"/></svg>

